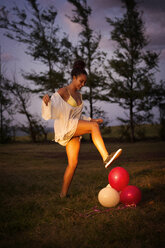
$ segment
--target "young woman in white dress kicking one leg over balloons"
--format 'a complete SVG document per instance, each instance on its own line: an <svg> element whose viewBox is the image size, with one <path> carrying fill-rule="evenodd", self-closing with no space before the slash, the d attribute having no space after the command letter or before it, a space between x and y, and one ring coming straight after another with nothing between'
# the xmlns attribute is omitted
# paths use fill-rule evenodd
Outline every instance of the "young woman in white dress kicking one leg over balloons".
<svg viewBox="0 0 165 248"><path fill-rule="evenodd" d="M85 63L83 61L76 61L71 72L71 83L55 92L51 99L45 95L42 102L42 117L45 120L55 120L55 141L66 146L68 166L64 173L61 198L67 196L77 167L81 135L91 134L92 141L103 159L105 168L108 168L122 153L122 149L111 154L108 153L99 129L99 124L103 122L102 119L91 119L81 115L83 101L79 90L87 81L87 72L84 68Z"/></svg>

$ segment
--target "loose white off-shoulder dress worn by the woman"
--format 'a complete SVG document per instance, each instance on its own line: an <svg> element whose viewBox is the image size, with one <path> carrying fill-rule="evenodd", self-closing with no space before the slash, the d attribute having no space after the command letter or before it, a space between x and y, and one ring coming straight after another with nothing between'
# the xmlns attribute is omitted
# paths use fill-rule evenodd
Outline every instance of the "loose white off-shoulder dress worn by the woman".
<svg viewBox="0 0 165 248"><path fill-rule="evenodd" d="M42 101L42 117L44 120L54 119L55 141L66 146L73 137L79 119L90 120L90 117L81 116L83 102L77 107L72 107L64 101L58 92L55 92L48 105Z"/></svg>

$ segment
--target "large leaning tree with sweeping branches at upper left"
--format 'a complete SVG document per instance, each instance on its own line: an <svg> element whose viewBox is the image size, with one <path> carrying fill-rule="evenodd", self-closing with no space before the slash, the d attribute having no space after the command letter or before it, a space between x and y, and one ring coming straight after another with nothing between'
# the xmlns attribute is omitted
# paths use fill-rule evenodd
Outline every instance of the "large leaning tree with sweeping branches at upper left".
<svg viewBox="0 0 165 248"><path fill-rule="evenodd" d="M64 68L68 64L71 43L66 34L60 38L54 6L42 8L37 0L26 0L26 3L29 10L16 5L11 11L3 7L0 28L6 30L8 38L27 45L26 54L47 67L45 72L24 73L24 77L37 86L35 92L52 93L65 83Z"/></svg>

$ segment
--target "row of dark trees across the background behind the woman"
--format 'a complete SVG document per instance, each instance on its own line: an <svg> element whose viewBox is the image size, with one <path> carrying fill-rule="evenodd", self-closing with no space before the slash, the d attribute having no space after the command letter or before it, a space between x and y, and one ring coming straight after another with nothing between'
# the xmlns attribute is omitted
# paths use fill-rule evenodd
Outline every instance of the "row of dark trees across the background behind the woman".
<svg viewBox="0 0 165 248"><path fill-rule="evenodd" d="M162 124L161 136L165 138L165 87L164 82L156 82L154 76L158 70L159 54L146 49L149 40L135 0L121 0L123 17L105 18L112 30L110 39L116 42L112 58L101 50L101 32L97 33L90 26L92 8L86 0L68 0L73 7L72 16L68 18L81 30L76 46L70 41L71 34L62 33L57 24L55 6L43 8L40 1L24 1L28 8L21 9L15 5L10 10L5 6L0 9L0 28L9 39L26 45L25 53L41 62L45 71L24 71L22 76L27 83L20 84L15 75L12 79L5 76L0 61L1 143L9 141L18 128L33 142L41 137L47 139L45 123L29 110L31 97L42 97L45 93L51 95L67 84L75 59L86 62L88 82L83 98L89 106L86 111L92 118L105 117L105 112L96 107L97 101L118 103L125 112L124 119L118 117L123 127L122 135L134 142L136 126L152 122L152 109L157 107ZM25 116L23 124L16 121L17 113Z"/></svg>

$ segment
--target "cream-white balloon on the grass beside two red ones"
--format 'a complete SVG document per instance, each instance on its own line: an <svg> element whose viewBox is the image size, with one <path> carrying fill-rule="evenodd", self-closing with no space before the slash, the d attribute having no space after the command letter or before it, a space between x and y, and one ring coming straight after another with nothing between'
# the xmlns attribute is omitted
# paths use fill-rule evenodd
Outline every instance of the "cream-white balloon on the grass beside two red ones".
<svg viewBox="0 0 165 248"><path fill-rule="evenodd" d="M120 195L117 190L105 187L100 190L98 200L103 207L115 207L120 201Z"/></svg>

